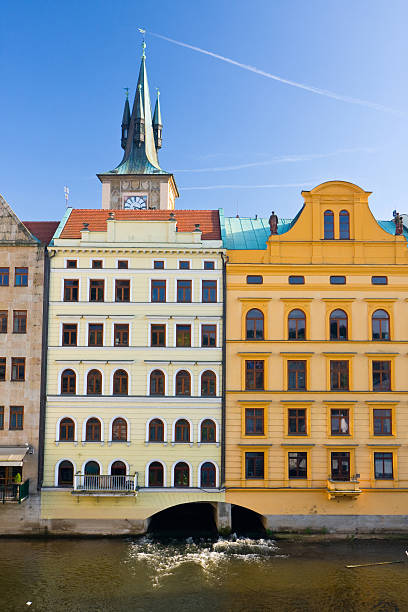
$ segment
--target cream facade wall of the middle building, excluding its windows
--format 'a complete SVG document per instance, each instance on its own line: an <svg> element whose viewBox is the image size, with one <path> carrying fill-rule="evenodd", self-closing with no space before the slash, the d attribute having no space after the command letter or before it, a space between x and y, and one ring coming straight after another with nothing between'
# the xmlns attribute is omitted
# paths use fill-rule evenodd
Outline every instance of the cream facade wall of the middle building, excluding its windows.
<svg viewBox="0 0 408 612"><path fill-rule="evenodd" d="M152 226L153 231L152 231ZM221 473L221 392L222 392L222 259L220 241L202 241L200 232L176 232L173 221L108 221L107 232L82 232L81 240L55 239L51 247L49 347L47 410L45 434L45 470L42 502L43 519L144 520L154 512L177 503L186 503L194 492L195 501L223 501L219 491ZM92 260L102 260L101 269L93 269ZM77 268L67 268L67 260L76 260ZM128 269L118 269L118 260L128 261ZM155 260L164 261L164 269L154 269ZM189 261L190 269L179 269L179 261ZM214 270L204 270L203 262L213 261ZM65 279L78 279L77 302L63 301ZM105 299L90 302L90 279L104 279ZM115 302L116 280L130 280L130 301ZM166 302L152 302L152 280L166 280ZM192 302L176 301L177 280L192 281ZM202 301L202 280L217 281L217 301ZM75 323L77 346L62 346L62 326ZM88 326L103 325L103 346L88 345ZM114 346L115 324L129 325L129 346ZM151 325L166 326L166 347L151 346ZM176 347L177 324L191 325L191 347ZM201 327L217 326L215 348L201 346ZM61 374L65 369L76 373L76 394L61 394ZM102 373L102 394L87 395L86 378L91 369ZM126 396L113 395L113 374L128 374ZM165 395L150 395L150 374L159 369L165 375ZM177 396L178 371L191 375L191 396ZM214 397L201 396L201 374L211 370L216 375ZM69 417L75 422L74 441L59 439L59 423ZM102 424L101 441L85 441L86 421L97 417ZM127 440L112 441L112 422L121 417L127 422ZM149 442L148 424L159 418L164 423L164 441ZM190 423L188 443L175 441L178 419ZM216 441L200 439L200 424L212 419ZM101 474L110 474L112 463L125 463L127 473L137 473L137 496L75 496L72 488L58 487L58 466L70 461L75 472L84 473L87 461L96 461ZM159 461L164 467L163 487L149 488L148 468ZM187 488L174 487L174 466L185 462L190 467ZM201 466L211 462L216 467L216 487L200 489ZM57 495L57 496L56 496ZM57 500L57 501L55 501ZM101 502L99 503L98 502ZM79 513L79 514L78 514ZM114 530L114 526L112 527Z"/></svg>

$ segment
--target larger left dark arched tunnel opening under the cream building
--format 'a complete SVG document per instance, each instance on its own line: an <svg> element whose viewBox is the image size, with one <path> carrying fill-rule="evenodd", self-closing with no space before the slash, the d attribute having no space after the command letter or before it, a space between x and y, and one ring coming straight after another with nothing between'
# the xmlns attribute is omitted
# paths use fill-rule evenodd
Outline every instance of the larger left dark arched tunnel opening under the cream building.
<svg viewBox="0 0 408 612"><path fill-rule="evenodd" d="M197 502L167 508L152 516L148 533L165 538L216 536L214 507Z"/></svg>

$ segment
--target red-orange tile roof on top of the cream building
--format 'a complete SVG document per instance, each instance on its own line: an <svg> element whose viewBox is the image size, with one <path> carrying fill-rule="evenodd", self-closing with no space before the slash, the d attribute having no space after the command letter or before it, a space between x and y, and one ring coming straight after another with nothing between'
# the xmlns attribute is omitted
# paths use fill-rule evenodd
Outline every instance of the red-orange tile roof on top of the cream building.
<svg viewBox="0 0 408 612"><path fill-rule="evenodd" d="M106 220L111 210L98 210L94 208L74 209L60 238L80 238L83 223L89 223L91 232L105 232ZM169 219L174 213L179 232L191 232L195 224L200 224L203 240L221 240L220 219L217 210L115 210L115 219L118 221L163 221Z"/></svg>

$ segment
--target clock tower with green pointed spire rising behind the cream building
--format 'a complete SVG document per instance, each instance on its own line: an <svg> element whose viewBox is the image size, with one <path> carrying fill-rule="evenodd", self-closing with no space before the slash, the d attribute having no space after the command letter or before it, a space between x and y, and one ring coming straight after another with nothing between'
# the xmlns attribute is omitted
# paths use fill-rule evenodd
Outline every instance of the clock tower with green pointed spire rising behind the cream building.
<svg viewBox="0 0 408 612"><path fill-rule="evenodd" d="M127 95L123 111L123 159L114 170L97 175L102 183L102 208L106 209L171 210L179 196L173 174L159 165L163 129L160 94L157 92L152 115L144 41L142 48L132 112Z"/></svg>

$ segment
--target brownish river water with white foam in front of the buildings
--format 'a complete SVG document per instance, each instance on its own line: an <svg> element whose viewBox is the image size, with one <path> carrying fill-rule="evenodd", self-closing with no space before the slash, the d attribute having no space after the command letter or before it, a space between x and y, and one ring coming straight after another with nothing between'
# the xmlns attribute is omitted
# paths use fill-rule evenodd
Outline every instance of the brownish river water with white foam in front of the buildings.
<svg viewBox="0 0 408 612"><path fill-rule="evenodd" d="M406 548L402 540L0 539L0 610L405 611Z"/></svg>

